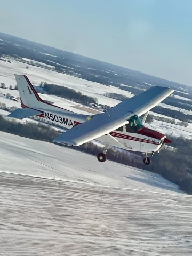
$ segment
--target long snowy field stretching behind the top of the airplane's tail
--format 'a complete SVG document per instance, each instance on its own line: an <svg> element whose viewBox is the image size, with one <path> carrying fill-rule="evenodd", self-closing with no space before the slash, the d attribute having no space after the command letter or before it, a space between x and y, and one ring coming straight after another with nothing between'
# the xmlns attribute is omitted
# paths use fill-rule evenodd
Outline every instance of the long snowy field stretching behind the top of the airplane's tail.
<svg viewBox="0 0 192 256"><path fill-rule="evenodd" d="M26 66L29 66L29 69L26 69ZM54 83L61 86L66 86L76 91L81 91L85 95L97 97L99 103L106 105L113 106L113 104L116 105L120 101L105 97L103 96L104 93L111 92L123 94L126 97L133 96L133 94L131 94L130 92L126 92L114 86L109 87L78 77L61 74L52 70L26 65L22 62L14 60L12 60L12 63L3 61L0 62L0 82L5 83L7 87L9 87L10 85L16 85L14 74L27 75L31 83L34 85L39 85L40 82L44 81L47 83Z"/></svg>

